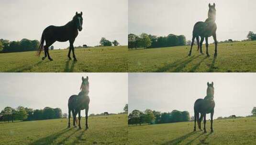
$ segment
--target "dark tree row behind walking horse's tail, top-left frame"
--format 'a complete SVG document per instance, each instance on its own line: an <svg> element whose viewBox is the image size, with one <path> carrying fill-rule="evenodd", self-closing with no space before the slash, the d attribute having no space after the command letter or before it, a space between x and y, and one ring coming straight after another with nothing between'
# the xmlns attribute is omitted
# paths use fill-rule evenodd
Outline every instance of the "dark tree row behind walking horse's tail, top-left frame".
<svg viewBox="0 0 256 145"><path fill-rule="evenodd" d="M0 52L2 53L36 51L38 46L38 40L22 39L21 41L9 41L0 39Z"/></svg>

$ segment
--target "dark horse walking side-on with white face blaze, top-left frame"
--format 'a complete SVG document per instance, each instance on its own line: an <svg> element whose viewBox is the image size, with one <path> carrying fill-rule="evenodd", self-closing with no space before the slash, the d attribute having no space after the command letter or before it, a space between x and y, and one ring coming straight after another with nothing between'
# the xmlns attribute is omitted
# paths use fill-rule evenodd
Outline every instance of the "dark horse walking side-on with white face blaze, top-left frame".
<svg viewBox="0 0 256 145"><path fill-rule="evenodd" d="M69 51L68 51L68 59L71 60L70 52L73 53L74 61L77 61L75 50L74 50L74 41L78 36L78 31L82 31L83 25L83 12L76 12L76 15L73 17L72 21L69 21L64 26L48 26L42 33L41 41L38 48L38 56L40 57L41 51L44 49L45 56L42 60L48 56L50 61L53 59L50 57L49 54L49 46L51 46L55 41L65 42L69 41ZM45 42L45 46L44 46Z"/></svg>

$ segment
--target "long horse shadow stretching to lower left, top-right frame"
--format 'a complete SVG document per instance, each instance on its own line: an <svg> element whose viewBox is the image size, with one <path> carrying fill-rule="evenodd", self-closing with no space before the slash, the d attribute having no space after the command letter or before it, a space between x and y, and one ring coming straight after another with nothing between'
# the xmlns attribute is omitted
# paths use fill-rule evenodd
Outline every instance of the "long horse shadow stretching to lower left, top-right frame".
<svg viewBox="0 0 256 145"><path fill-rule="evenodd" d="M167 72L167 71L169 71L173 68L175 68L175 70L173 70L172 72L181 72L182 69L184 69L184 67L186 67L189 64L189 62L192 62L193 60L195 60L199 56L200 55L197 55L197 56L193 55L191 57L186 56L186 57L184 57L184 58L182 58L182 59L180 59L176 62L167 64L164 67L157 69L155 72L156 73Z"/></svg>

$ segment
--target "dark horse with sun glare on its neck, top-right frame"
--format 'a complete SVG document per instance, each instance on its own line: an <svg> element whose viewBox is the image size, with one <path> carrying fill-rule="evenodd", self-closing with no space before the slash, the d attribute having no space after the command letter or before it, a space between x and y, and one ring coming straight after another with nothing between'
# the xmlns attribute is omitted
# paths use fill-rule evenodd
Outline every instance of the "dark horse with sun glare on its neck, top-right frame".
<svg viewBox="0 0 256 145"><path fill-rule="evenodd" d="M197 45L198 45L198 51L199 51L199 46L200 46L200 53L203 54L202 52L202 44L205 38L206 42L206 54L207 57L209 57L209 52L208 52L208 37L213 37L214 43L215 43L215 53L214 57L217 57L217 39L216 39L216 30L217 30L217 25L215 23L216 20L216 9L215 9L215 3L211 6L209 3L209 11L208 11L208 19L206 19L204 22L199 21L194 25L193 28L193 37L192 37L192 43L191 43L191 48L189 51L189 56L191 56L191 51L192 47L195 41L195 38L197 39ZM200 44L199 44L199 36L201 38Z"/></svg>

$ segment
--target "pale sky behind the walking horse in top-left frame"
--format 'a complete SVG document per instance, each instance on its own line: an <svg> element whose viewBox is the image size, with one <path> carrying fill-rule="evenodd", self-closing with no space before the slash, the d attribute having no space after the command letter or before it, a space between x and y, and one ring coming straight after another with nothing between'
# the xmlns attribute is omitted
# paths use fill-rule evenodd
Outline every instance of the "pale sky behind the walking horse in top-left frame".
<svg viewBox="0 0 256 145"><path fill-rule="evenodd" d="M62 26L76 11L83 12L83 30L74 46L99 45L101 37L127 45L127 0L1 0L0 39L40 40L50 25ZM67 48L69 42L55 42L55 48Z"/></svg>

